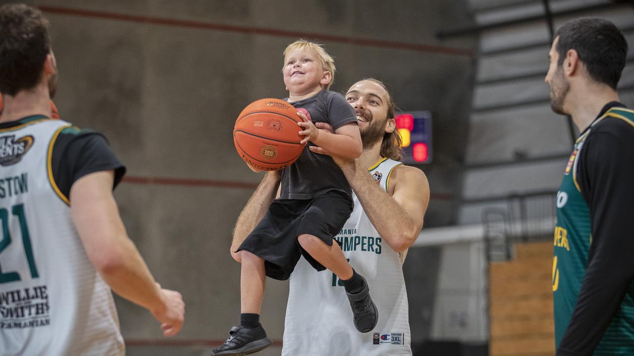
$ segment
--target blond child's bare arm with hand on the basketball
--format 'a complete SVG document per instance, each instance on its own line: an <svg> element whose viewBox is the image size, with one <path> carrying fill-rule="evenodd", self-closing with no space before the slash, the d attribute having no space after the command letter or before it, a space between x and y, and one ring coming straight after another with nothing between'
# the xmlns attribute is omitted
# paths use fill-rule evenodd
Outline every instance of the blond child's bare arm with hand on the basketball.
<svg viewBox="0 0 634 356"><path fill-rule="evenodd" d="M302 143L311 141L330 153L344 158L359 158L359 156L361 156L363 146L361 144L359 127L356 122L351 122L339 127L339 129L335 130L335 133L332 134L327 130L318 129L304 113L298 112L297 115L302 118L302 122L298 122L297 125L304 128L299 134L306 136L302 140Z"/></svg>

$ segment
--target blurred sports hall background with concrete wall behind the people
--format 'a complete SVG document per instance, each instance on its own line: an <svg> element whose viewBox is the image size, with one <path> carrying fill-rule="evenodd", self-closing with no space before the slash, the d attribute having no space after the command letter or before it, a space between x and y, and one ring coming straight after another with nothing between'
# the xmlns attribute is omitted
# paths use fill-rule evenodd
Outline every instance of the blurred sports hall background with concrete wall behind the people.
<svg viewBox="0 0 634 356"><path fill-rule="evenodd" d="M0 0L0 4L13 1ZM403 112L430 111L424 229L403 265L414 355L552 355L555 195L574 137L544 82L552 29L598 16L630 49L634 5L608 0L36 0L51 22L63 120L107 136L131 239L183 294L181 333L117 297L127 355L208 355L240 308L232 230L262 173L236 153L244 106L287 95L282 51L335 57L332 90L382 80ZM288 283L268 280L262 323L280 355ZM342 342L345 342L344 340Z"/></svg>

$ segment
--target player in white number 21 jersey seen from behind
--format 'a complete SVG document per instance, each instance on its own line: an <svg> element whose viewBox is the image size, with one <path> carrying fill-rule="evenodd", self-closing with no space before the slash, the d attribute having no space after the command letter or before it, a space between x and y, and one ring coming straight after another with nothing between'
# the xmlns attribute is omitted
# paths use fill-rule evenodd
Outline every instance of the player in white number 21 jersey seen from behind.
<svg viewBox="0 0 634 356"><path fill-rule="evenodd" d="M127 238L112 196L125 168L105 138L51 120L56 73L41 12L2 6L0 353L124 355L110 288L148 308L165 336L184 304Z"/></svg>

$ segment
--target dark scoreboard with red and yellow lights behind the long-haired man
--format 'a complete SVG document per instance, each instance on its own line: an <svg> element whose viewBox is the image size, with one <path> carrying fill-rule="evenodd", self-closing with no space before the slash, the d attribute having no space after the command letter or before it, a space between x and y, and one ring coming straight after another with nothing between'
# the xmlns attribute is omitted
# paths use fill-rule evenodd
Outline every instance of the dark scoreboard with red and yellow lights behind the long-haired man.
<svg viewBox="0 0 634 356"><path fill-rule="evenodd" d="M401 134L403 163L432 162L432 116L429 111L408 111L394 117Z"/></svg>

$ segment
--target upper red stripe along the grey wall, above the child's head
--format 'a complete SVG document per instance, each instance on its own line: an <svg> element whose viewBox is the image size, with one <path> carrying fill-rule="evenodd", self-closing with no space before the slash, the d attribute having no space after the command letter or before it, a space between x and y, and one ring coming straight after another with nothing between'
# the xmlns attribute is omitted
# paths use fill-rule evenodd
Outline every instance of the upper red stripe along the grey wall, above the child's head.
<svg viewBox="0 0 634 356"><path fill-rule="evenodd" d="M164 18L164 17L154 17L154 16L126 15L122 13L111 13L107 11L80 10L80 9L63 8L63 7L57 7L57 6L39 6L39 9L48 13L55 13L59 15L107 18L110 20L150 23L153 25L190 27L195 29L219 30L219 31L226 31L226 32L238 32L243 34L270 35L270 36L276 36L276 37L294 37L294 38L302 37L302 38L315 39L316 41L330 41L330 42L339 42L339 43L347 43L347 44L358 44L360 46L408 49L411 51L452 54L456 56L469 56L469 57L474 56L474 52L471 51L470 49L453 48L453 47L447 47L447 46L433 46L428 44L417 44L417 43L410 43L410 42L384 41L379 39L365 39L365 38L358 38L358 37L330 35L330 34L315 34L311 32L267 29L264 27L224 25L221 23L177 20L174 18Z"/></svg>

